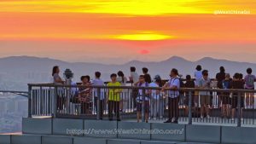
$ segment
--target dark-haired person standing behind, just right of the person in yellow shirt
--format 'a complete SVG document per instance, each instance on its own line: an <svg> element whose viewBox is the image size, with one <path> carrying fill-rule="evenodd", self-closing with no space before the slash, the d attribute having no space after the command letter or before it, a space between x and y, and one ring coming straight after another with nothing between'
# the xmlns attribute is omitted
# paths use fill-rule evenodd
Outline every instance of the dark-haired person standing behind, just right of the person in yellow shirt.
<svg viewBox="0 0 256 144"><path fill-rule="evenodd" d="M125 77L124 72L119 71L118 72L118 78L117 81L121 84L121 86L126 86L127 78ZM120 95L120 112L125 112L125 109L127 108L127 102L128 102L128 90L123 89L121 95ZM125 107L125 109L124 109Z"/></svg>

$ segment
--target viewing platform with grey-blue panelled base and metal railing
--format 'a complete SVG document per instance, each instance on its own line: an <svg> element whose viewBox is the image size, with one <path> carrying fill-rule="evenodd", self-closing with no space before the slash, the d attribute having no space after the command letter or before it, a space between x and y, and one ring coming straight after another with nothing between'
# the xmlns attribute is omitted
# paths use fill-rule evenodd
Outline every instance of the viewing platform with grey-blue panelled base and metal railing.
<svg viewBox="0 0 256 144"><path fill-rule="evenodd" d="M177 89L184 94L178 101L178 123L164 124L168 107L166 89L161 93L161 105L157 114L149 112L145 123L145 107L142 109L142 123L137 123L137 109L133 107L132 92L135 87L91 86L92 97L103 96L104 106L100 115L100 100L92 100L89 112L81 112L81 101L73 101L81 86L29 84L28 92L19 92L28 98L28 118L22 119L22 134L0 135L0 144L253 144L256 143L256 118L254 107L241 107L244 94L254 90L244 89ZM121 121L108 120L109 89L122 89L119 110ZM160 88L140 88L143 92ZM139 90L139 89L137 89ZM192 99L194 92L205 91L212 96L210 118L201 118L200 101ZM238 103L235 118L222 115L222 95L237 93ZM27 94L27 95L26 95ZM186 95L188 94L188 95ZM217 95L218 94L218 95ZM154 96L154 95L153 95ZM199 95L201 96L201 95ZM193 101L194 100L194 101ZM146 99L143 100L143 105ZM150 104L154 98L150 97ZM230 103L232 105L232 103ZM161 109L162 108L162 109ZM242 112L241 112L242 111ZM161 114L162 112L162 114ZM102 118L102 120L101 120Z"/></svg>

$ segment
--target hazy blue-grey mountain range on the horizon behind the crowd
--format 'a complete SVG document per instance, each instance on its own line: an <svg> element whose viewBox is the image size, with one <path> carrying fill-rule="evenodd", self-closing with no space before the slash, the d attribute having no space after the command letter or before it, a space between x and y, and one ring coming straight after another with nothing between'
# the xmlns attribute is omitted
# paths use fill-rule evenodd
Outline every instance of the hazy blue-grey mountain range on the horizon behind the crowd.
<svg viewBox="0 0 256 144"><path fill-rule="evenodd" d="M79 81L81 75L90 75L94 77L94 72L102 72L102 78L104 80L109 79L110 73L118 72L119 70L125 72L125 75L129 77L130 66L136 66L137 72L142 73L142 67L148 67L149 73L154 76L160 74L162 78L168 78L170 70L177 68L179 73L183 76L195 72L195 66L201 65L203 69L207 69L210 72L210 76L213 78L218 72L219 66L224 66L226 72L230 72L233 75L235 72L241 72L246 74L247 67L252 67L256 72L256 64L247 62L238 62L231 60L218 60L211 57L202 58L197 61L185 60L182 57L172 56L168 60L145 62L139 60L132 60L123 65L105 65L99 63L89 62L67 62L63 60L54 60L49 58L38 58L29 56L12 56L0 59L0 72L2 73L1 78L4 77L16 77L18 81L27 82L25 78L19 77L19 73L33 73L35 75L33 82L41 82L42 79L49 81L52 66L60 66L61 71L64 72L66 68L70 68L75 74L75 80ZM38 75L44 73L44 76L48 78L38 78ZM42 76L41 76L42 77Z"/></svg>

